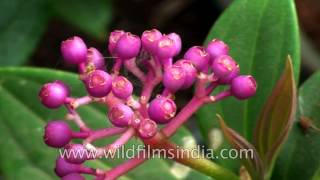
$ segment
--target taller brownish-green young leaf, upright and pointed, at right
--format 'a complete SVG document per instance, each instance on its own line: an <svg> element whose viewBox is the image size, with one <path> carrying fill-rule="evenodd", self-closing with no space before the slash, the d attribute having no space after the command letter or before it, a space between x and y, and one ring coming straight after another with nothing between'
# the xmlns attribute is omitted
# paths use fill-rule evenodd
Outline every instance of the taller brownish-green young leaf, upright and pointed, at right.
<svg viewBox="0 0 320 180"><path fill-rule="evenodd" d="M296 85L290 57L264 105L254 132L254 145L269 176L279 149L286 142L296 113Z"/></svg>

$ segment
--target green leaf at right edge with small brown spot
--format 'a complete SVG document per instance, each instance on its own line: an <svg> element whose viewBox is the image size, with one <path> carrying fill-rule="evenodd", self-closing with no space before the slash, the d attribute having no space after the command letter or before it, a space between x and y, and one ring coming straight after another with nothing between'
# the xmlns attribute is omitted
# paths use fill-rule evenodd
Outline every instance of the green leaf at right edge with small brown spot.
<svg viewBox="0 0 320 180"><path fill-rule="evenodd" d="M316 179L317 173L319 178L319 87L320 72L317 72L299 88L298 116L288 142L279 154L272 179Z"/></svg>

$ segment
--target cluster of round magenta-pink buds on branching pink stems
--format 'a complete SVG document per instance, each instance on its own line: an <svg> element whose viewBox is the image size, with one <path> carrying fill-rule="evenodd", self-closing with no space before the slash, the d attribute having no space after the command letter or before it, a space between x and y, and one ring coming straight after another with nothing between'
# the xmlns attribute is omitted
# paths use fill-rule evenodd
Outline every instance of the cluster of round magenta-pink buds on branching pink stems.
<svg viewBox="0 0 320 180"><path fill-rule="evenodd" d="M181 46L180 36L176 33L162 34L152 29L144 31L139 37L115 30L111 32L108 43L114 63L107 72L104 56L97 49L88 48L81 38L75 36L62 42L62 56L66 63L78 66L88 95L71 97L69 87L58 80L41 88L41 103L48 108L64 105L68 110L67 119L80 129L73 131L67 122L52 120L45 127L44 142L53 148L64 148L67 152L94 150L96 154L91 157L80 157L81 153L59 156L55 167L59 177L63 180L81 180L84 179L81 174L90 174L96 179L116 179L146 158L129 159L111 170L89 168L83 163L101 158L103 151L115 151L135 136L146 145L157 144L161 138L173 135L202 105L229 96L246 99L256 93L255 79L251 75L239 75L238 64L229 56L229 48L221 40L214 39L207 47L191 47L183 59L175 61ZM140 80L143 87L140 96L133 95L133 84L120 74L123 67ZM153 94L153 89L161 83L164 87L162 93ZM194 96L178 111L175 93L194 84ZM219 85L229 88L212 95ZM89 128L77 112L79 106L89 103L107 106L106 119L113 127ZM159 124L163 124L163 128ZM93 145L98 139L116 135L119 138L105 147ZM83 139L83 143L74 144L72 139Z"/></svg>

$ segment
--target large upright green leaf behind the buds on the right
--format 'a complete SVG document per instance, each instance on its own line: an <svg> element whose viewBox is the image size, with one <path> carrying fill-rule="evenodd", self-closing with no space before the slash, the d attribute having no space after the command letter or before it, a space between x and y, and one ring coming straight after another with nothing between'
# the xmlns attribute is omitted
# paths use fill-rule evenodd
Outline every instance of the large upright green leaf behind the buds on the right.
<svg viewBox="0 0 320 180"><path fill-rule="evenodd" d="M250 140L258 114L279 78L288 54L295 80L300 65L300 43L293 0L234 0L212 27L206 42L218 38L230 46L241 74L252 74L258 83L256 96L240 101L229 98L207 105L198 112L199 125L209 143L209 132L217 127L216 113Z"/></svg>

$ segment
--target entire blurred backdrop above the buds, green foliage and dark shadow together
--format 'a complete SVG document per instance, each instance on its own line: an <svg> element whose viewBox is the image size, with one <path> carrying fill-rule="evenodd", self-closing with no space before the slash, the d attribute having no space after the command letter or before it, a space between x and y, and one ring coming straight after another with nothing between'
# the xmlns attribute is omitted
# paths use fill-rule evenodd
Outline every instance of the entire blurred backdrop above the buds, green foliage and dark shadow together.
<svg viewBox="0 0 320 180"><path fill-rule="evenodd" d="M177 32L183 49L202 44L231 0L1 0L0 66L74 70L62 63L62 40L79 35L105 56L108 32ZM320 67L320 2L296 0L302 35L302 81Z"/></svg>

